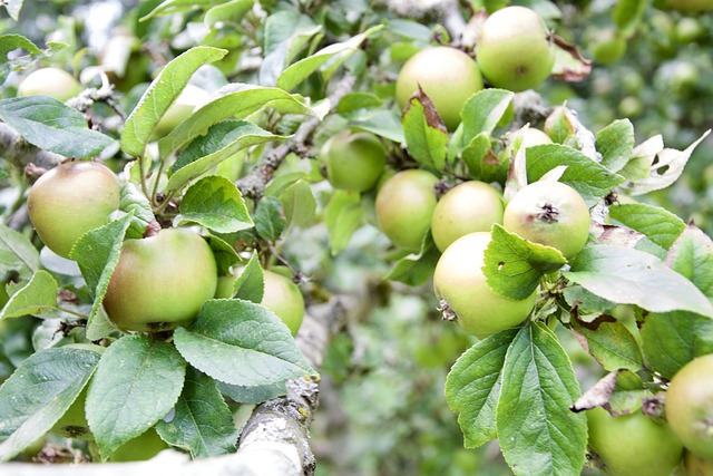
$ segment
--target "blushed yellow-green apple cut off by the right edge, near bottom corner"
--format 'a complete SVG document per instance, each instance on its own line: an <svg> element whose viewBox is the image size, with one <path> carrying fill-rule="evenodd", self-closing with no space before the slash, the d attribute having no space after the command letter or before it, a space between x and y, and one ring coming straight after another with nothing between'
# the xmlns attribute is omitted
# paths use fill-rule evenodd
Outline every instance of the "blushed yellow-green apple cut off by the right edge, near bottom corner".
<svg viewBox="0 0 713 476"><path fill-rule="evenodd" d="M691 360L673 376L666 419L686 449L713 460L713 353Z"/></svg>

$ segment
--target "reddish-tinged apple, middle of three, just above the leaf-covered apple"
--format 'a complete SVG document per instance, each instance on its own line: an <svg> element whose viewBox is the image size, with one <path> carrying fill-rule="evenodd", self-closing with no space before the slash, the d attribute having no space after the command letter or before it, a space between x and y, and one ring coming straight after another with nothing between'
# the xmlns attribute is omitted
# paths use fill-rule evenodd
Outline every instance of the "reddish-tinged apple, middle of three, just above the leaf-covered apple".
<svg viewBox="0 0 713 476"><path fill-rule="evenodd" d="M485 182L463 182L446 193L433 208L431 234L439 251L472 232L489 232L502 223L505 205L498 191Z"/></svg>

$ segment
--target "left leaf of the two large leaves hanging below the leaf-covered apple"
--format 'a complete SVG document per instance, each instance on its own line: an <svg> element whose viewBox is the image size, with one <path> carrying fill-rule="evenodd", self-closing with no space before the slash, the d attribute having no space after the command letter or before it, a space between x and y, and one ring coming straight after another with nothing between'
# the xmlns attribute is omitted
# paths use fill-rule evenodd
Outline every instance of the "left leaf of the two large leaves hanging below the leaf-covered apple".
<svg viewBox="0 0 713 476"><path fill-rule="evenodd" d="M498 437L496 406L505 356L519 329L506 329L463 352L448 372L446 400L459 412L466 448L477 448Z"/></svg>

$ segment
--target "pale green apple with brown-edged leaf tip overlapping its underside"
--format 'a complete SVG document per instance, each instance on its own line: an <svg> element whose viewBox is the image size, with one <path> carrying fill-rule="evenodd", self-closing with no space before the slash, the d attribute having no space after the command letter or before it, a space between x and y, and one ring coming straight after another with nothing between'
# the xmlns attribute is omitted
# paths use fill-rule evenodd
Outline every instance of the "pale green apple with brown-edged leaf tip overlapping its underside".
<svg viewBox="0 0 713 476"><path fill-rule="evenodd" d="M446 127L455 130L466 100L482 89L482 76L476 61L463 51L433 47L413 55L399 72L397 101L402 109L419 85Z"/></svg>

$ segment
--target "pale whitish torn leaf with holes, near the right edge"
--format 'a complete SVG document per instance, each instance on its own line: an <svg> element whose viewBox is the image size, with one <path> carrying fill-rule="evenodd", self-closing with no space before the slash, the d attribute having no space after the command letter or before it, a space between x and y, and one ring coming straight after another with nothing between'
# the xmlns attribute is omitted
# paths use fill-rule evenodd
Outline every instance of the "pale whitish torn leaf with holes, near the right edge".
<svg viewBox="0 0 713 476"><path fill-rule="evenodd" d="M658 144L663 147L661 136L653 137L641 144L634 149L634 157L647 157L648 163L652 165L651 173L646 178L625 182L621 185L621 188L632 196L666 188L681 177L683 168L691 158L691 154L693 154L693 150L695 150L709 134L711 134L711 129L703 133L701 137L684 150L676 150L674 148L657 149L656 146ZM655 163L654 158L656 158Z"/></svg>

